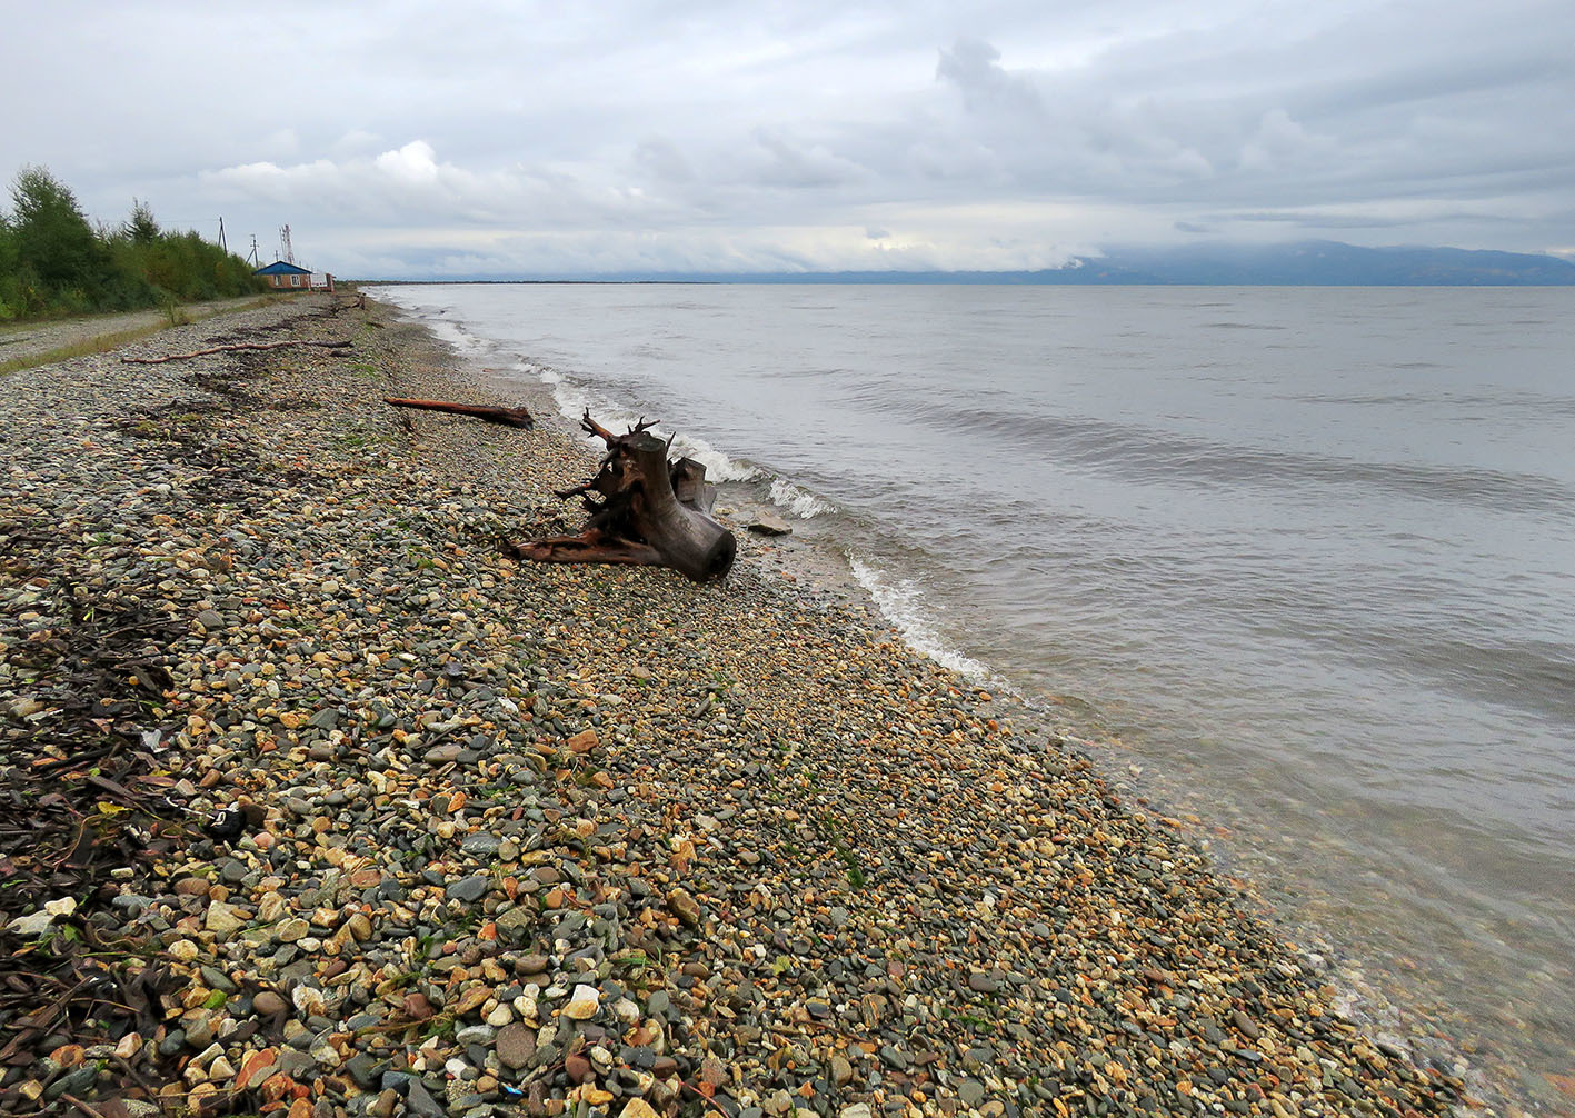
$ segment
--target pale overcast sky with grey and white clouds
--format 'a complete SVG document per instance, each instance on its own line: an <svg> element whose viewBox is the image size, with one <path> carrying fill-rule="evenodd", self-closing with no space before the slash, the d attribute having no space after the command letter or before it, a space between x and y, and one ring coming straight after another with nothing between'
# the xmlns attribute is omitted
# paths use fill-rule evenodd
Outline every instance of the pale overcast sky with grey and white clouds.
<svg viewBox="0 0 1575 1118"><path fill-rule="evenodd" d="M346 277L1575 258L1570 0L5 6L0 176Z"/></svg>

